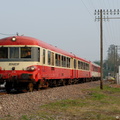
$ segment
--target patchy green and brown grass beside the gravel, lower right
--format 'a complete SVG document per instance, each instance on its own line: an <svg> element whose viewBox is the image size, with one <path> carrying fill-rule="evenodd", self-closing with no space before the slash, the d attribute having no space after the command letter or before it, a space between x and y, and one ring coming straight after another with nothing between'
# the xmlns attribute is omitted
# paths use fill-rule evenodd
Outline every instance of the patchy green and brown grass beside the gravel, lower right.
<svg viewBox="0 0 120 120"><path fill-rule="evenodd" d="M115 120L120 116L120 88L104 86L103 90L97 87L83 91L89 91L83 98L42 105L39 110L23 115L19 120Z"/></svg>

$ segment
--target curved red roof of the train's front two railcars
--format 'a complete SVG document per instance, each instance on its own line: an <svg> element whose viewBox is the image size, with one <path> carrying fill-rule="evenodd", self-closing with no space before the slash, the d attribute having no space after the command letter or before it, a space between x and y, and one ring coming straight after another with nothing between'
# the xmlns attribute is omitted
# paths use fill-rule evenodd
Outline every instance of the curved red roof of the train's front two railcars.
<svg viewBox="0 0 120 120"><path fill-rule="evenodd" d="M14 38L15 41L12 41L12 38ZM69 56L69 57L73 57L73 58L77 58L77 59L80 59L80 60L85 61L85 62L89 62L83 58L77 57L76 55L74 55L72 53L66 52L60 48L57 48L55 46L52 46L48 43L45 43L41 40L38 40L38 39L32 38L32 37L12 36L12 37L0 39L0 46L4 46L4 45L38 45L38 46L41 46L43 48L58 52L60 54L63 54L63 55Z"/></svg>

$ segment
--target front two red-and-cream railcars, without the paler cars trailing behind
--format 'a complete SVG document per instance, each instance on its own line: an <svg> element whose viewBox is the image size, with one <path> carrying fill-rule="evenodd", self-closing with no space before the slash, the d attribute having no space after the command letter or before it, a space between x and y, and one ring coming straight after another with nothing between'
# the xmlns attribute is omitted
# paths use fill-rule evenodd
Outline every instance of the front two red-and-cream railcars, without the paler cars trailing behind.
<svg viewBox="0 0 120 120"><path fill-rule="evenodd" d="M0 40L0 84L6 90L65 85L90 79L91 62L25 36Z"/></svg>

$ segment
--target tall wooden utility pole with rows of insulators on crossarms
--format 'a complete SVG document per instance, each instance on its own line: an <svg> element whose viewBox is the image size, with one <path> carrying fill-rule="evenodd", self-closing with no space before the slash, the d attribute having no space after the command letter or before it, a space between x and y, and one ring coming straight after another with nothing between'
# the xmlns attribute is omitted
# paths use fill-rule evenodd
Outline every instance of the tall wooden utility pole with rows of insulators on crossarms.
<svg viewBox="0 0 120 120"><path fill-rule="evenodd" d="M101 75L100 75L100 89L103 89L103 19L108 20L108 19L120 19L120 18L108 18L103 17L103 15L119 15L120 11L119 9L116 10L95 10L95 15L98 15L98 17L95 17L95 20L100 20L100 70L101 70Z"/></svg>

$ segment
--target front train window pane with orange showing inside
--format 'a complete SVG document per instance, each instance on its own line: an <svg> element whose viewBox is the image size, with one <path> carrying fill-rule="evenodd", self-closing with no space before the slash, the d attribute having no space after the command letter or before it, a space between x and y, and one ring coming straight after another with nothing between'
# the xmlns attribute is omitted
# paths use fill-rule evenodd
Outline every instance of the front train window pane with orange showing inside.
<svg viewBox="0 0 120 120"><path fill-rule="evenodd" d="M21 47L21 58L31 58L31 47Z"/></svg>

